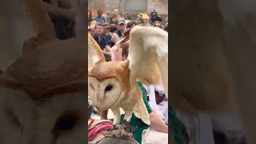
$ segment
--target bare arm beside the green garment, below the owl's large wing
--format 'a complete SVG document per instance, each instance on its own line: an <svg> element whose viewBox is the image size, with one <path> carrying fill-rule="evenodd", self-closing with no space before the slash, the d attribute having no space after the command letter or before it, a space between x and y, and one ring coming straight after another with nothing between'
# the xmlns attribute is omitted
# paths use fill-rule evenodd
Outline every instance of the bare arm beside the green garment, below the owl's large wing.
<svg viewBox="0 0 256 144"><path fill-rule="evenodd" d="M162 133L168 133L168 126L166 125L166 122L164 122L158 113L153 109L150 113L150 127Z"/></svg>

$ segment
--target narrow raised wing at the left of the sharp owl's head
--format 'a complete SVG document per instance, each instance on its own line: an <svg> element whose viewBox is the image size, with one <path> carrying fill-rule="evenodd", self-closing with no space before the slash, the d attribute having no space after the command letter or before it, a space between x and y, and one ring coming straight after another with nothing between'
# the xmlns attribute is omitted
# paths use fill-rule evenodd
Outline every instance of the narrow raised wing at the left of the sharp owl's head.
<svg viewBox="0 0 256 144"><path fill-rule="evenodd" d="M98 43L88 34L88 71L90 71L97 62L105 62L104 54L98 46Z"/></svg>

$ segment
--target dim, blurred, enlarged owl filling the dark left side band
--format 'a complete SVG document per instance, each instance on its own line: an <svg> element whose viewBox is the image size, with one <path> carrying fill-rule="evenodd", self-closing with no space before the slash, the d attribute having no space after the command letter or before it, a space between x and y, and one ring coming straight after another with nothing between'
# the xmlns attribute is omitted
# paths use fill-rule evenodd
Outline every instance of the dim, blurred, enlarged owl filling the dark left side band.
<svg viewBox="0 0 256 144"><path fill-rule="evenodd" d="M58 40L40 0L26 0L37 34L0 76L0 143L85 141L85 39Z"/></svg>

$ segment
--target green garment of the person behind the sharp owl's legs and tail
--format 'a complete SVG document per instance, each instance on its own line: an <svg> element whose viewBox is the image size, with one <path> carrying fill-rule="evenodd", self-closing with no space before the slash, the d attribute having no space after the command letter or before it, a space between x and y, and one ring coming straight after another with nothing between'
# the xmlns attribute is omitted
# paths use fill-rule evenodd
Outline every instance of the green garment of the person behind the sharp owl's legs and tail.
<svg viewBox="0 0 256 144"><path fill-rule="evenodd" d="M147 102L147 96L146 96L146 89L143 87L142 82L137 83L138 86L142 90L142 98L143 102L146 105L146 110L150 114L152 112L149 103ZM124 118L124 114L121 115L121 122ZM137 118L134 114L132 114L132 117L130 118L130 126L135 126L137 129L133 131L134 139L142 143L142 131L148 129L150 126L148 126L146 123L142 122L142 119Z"/></svg>

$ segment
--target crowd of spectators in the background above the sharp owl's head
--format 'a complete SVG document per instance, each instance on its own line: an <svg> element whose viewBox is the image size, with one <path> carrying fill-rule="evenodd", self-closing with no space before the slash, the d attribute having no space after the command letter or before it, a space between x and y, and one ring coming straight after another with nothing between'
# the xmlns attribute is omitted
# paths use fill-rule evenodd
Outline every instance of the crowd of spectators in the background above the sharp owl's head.
<svg viewBox="0 0 256 144"><path fill-rule="evenodd" d="M155 26L166 31L168 29L167 18L158 16L154 8L150 10L150 14L138 14L135 18L130 13L120 13L118 9L114 9L113 14L102 14L102 10L98 10L97 16L93 17L92 11L88 10L88 31L103 50L106 61L118 57L114 54L115 50L120 49L118 42L122 38L126 41L130 30L136 25Z"/></svg>

